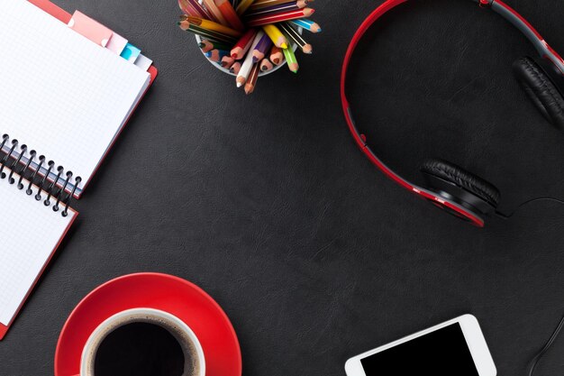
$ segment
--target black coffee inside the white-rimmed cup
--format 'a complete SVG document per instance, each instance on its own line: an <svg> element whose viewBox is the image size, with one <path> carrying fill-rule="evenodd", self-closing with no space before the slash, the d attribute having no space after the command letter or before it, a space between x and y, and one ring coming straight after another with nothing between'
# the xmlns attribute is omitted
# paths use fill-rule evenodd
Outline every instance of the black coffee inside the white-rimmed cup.
<svg viewBox="0 0 564 376"><path fill-rule="evenodd" d="M167 329L138 322L107 335L94 364L96 376L181 376L185 359Z"/></svg>

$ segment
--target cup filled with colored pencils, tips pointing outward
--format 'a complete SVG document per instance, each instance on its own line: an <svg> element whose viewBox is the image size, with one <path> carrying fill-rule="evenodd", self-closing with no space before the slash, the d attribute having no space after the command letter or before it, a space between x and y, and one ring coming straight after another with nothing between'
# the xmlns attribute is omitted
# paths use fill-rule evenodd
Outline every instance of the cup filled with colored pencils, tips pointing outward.
<svg viewBox="0 0 564 376"><path fill-rule="evenodd" d="M308 19L314 0L177 0L184 12L177 25L196 34L205 59L235 77L245 94L254 91L259 77L283 66L297 73L296 50L313 52L304 30L321 32Z"/></svg>

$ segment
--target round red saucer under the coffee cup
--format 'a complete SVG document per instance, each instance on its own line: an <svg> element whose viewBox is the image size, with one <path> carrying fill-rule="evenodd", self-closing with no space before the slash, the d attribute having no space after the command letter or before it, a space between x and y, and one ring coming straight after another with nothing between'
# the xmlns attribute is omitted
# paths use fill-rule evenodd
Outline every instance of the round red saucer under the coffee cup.
<svg viewBox="0 0 564 376"><path fill-rule="evenodd" d="M195 284L159 273L119 277L86 295L60 332L55 376L77 374L82 349L96 327L136 307L166 311L190 326L204 348L206 376L241 376L241 348L223 309Z"/></svg>

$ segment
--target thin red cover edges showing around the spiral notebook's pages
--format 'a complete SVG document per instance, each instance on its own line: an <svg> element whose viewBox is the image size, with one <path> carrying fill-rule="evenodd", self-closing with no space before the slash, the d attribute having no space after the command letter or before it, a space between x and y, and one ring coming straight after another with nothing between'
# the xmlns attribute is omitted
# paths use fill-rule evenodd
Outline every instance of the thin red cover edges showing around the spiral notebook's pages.
<svg viewBox="0 0 564 376"><path fill-rule="evenodd" d="M30 3L32 3L33 5L38 6L39 8L41 8L42 10L44 10L45 12L47 12L48 14L52 15L53 17L59 19L60 22L62 23L68 23L70 21L70 18L72 17L71 14L69 14L68 12L62 10L61 8L59 8L59 6L54 5L53 3L51 3L49 0L28 0ZM150 74L150 85L149 87L152 85L153 81L155 80L155 78L157 78L157 74L159 73L159 71L154 67L151 66L149 69L149 74ZM149 90L149 87L147 87L147 90ZM145 94L147 94L147 91L145 91L145 93L143 93L143 96L145 96ZM142 98L141 98L142 100ZM139 101L139 103L141 103L141 100ZM139 105L139 104L138 104ZM133 111L134 112L134 111ZM133 113L132 112L132 113ZM131 117L131 116L130 116ZM129 121L129 119L128 119ZM124 126L122 127L122 129L120 130L120 133L122 132ZM119 136L119 134L118 134ZM117 137L115 137L115 139L117 139ZM110 145L110 147L108 148L108 150L105 152L104 158L107 155L107 153L109 152L109 150L112 148L112 146L114 146L113 144ZM102 160L104 160L104 158ZM102 161L100 162L100 164L102 164ZM99 165L98 165L99 166ZM93 176L96 174L93 174ZM84 186L82 187L82 190L84 191L84 189L86 188L86 185L88 184L88 181L85 182ZM76 218L77 216L75 216ZM74 220L73 220L74 221ZM70 226L72 225L72 222L68 225L67 231L70 228ZM63 241L63 239L65 238L67 232L65 232L65 234L63 234L60 238L59 241L59 245L60 242ZM27 300L27 298L29 298L30 294L32 293L32 290L35 288L35 285L37 284L37 281L41 278L41 274L43 273L43 271L45 271L45 268L47 267L47 265L49 265L49 262L51 260L51 258L53 257L53 255L55 254L55 252L57 251L57 248L59 247L59 245L57 247L55 247L55 250L53 250L53 252L50 254L49 259L47 260L47 262L45 262L45 265L43 266L43 269L41 270L41 272L38 274L37 278L35 279L35 281L33 282L32 288L27 292L27 295L25 296L25 298L23 299L22 303L20 304L20 307L18 308L17 312L15 313L14 317L12 318L12 321L7 325L3 325L0 324L0 340L2 340L6 334L6 332L8 331L8 329L10 328L10 326L14 323L14 319L16 316L18 316L20 310L22 309L25 301Z"/></svg>

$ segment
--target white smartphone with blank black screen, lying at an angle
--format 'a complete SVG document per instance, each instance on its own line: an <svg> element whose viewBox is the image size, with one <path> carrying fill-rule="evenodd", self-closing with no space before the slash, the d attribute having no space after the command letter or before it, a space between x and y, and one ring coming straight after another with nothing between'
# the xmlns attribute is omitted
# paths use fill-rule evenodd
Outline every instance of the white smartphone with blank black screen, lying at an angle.
<svg viewBox="0 0 564 376"><path fill-rule="evenodd" d="M407 335L350 358L347 376L496 376L486 339L472 315Z"/></svg>

